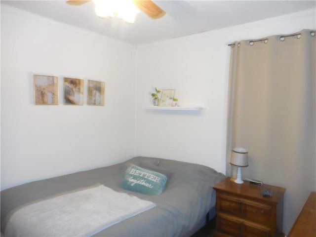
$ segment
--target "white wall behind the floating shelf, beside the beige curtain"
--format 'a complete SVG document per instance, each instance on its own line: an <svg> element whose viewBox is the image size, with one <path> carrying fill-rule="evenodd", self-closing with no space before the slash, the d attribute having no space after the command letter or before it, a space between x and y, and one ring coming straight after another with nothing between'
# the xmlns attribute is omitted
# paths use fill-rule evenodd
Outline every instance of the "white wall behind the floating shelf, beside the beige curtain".
<svg viewBox="0 0 316 237"><path fill-rule="evenodd" d="M230 60L230 47L227 44L235 40L260 39L315 29L315 19L315 9L312 9L139 46L136 66L136 153L196 162L225 173ZM199 104L206 110L200 114L146 111L144 108L152 103L150 92L153 86L159 89L174 88L181 105ZM287 191L283 224L285 233L290 230L305 202L302 198L294 198L295 201L290 202L289 195L291 192Z"/></svg>

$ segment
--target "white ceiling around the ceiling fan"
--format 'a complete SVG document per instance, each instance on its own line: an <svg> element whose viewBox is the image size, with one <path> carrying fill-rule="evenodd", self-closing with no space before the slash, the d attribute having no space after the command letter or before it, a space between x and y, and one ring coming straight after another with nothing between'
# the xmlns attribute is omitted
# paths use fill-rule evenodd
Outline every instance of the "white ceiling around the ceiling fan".
<svg viewBox="0 0 316 237"><path fill-rule="evenodd" d="M152 20L145 13L134 24L99 18L92 1L70 6L63 0L1 0L1 3L132 44L144 44L196 34L269 17L316 9L315 0L155 0L165 16Z"/></svg>

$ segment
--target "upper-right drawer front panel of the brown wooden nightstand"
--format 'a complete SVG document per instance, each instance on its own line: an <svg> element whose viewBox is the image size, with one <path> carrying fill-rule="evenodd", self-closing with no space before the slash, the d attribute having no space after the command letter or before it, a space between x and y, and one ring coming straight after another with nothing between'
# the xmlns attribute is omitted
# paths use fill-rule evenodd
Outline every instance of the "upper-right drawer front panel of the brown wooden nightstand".
<svg viewBox="0 0 316 237"><path fill-rule="evenodd" d="M272 207L260 203L243 203L243 217L256 223L268 225L272 220Z"/></svg>

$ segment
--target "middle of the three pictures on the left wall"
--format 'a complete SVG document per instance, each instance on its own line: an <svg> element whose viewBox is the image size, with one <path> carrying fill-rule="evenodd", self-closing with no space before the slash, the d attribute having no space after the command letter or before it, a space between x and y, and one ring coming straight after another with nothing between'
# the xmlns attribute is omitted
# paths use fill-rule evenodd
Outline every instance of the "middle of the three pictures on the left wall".
<svg viewBox="0 0 316 237"><path fill-rule="evenodd" d="M83 79L64 78L64 105L83 105Z"/></svg>

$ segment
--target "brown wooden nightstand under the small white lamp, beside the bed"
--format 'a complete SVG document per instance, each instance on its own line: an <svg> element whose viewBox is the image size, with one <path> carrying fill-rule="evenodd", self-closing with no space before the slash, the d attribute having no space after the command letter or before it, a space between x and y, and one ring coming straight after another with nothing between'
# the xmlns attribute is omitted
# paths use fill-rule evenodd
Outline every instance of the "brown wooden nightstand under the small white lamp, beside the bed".
<svg viewBox="0 0 316 237"><path fill-rule="evenodd" d="M273 190L263 197L261 187L230 178L214 186L216 190L216 231L237 237L274 237L282 232L285 188L264 185Z"/></svg>

